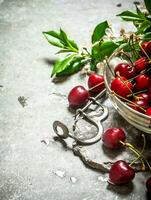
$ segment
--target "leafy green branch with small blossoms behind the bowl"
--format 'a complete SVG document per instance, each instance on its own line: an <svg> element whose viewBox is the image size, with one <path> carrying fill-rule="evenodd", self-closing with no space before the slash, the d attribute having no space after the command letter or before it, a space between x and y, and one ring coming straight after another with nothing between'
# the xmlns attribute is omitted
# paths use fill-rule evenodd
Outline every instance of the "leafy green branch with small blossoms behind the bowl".
<svg viewBox="0 0 151 200"><path fill-rule="evenodd" d="M92 33L90 52L86 47L79 48L74 40L71 40L61 28L59 31L43 32L47 41L59 48L56 54L63 54L63 58L56 61L51 76L68 76L80 71L87 63L90 70L96 71L97 64L109 57L117 48L122 47L125 52L132 52L132 59L136 60L139 52L138 40L151 40L151 3L145 0L148 14L142 12L136 6L136 12L124 11L120 16L124 21L132 22L136 32L128 37L123 33L121 37L109 37L112 32L107 21L98 24ZM135 37L134 37L135 36Z"/></svg>

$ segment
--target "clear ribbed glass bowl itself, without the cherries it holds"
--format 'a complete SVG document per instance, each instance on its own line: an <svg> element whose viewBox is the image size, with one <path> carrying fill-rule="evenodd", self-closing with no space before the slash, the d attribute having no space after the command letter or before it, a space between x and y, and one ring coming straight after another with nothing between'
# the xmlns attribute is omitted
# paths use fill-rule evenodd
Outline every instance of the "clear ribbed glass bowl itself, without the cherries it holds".
<svg viewBox="0 0 151 200"><path fill-rule="evenodd" d="M116 53L114 53L108 59L108 64L113 71L115 66L121 62L123 62L123 59L120 59L118 56L116 56ZM126 60L124 62L126 62ZM104 81L107 93L111 102L113 103L114 108L130 124L132 124L141 131L151 134L151 117L135 111L134 109L130 108L126 103L121 101L117 96L115 96L112 90L110 89L110 83L112 79L113 75L106 64L104 67Z"/></svg>

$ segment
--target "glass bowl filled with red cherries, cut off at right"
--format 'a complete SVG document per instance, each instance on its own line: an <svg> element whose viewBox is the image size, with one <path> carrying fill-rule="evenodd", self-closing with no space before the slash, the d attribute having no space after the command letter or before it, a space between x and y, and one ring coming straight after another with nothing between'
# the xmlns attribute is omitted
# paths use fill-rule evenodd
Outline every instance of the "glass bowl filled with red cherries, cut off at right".
<svg viewBox="0 0 151 200"><path fill-rule="evenodd" d="M119 114L139 130L151 133L151 41L140 45L135 61L121 49L114 52L105 65L104 82Z"/></svg>

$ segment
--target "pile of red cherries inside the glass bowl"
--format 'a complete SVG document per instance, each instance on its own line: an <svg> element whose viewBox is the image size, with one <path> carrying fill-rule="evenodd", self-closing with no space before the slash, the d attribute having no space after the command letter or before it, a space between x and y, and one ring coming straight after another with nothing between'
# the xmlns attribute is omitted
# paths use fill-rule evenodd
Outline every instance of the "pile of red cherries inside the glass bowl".
<svg viewBox="0 0 151 200"><path fill-rule="evenodd" d="M134 110L151 116L151 42L141 44L140 54L135 62L115 67L111 90Z"/></svg>

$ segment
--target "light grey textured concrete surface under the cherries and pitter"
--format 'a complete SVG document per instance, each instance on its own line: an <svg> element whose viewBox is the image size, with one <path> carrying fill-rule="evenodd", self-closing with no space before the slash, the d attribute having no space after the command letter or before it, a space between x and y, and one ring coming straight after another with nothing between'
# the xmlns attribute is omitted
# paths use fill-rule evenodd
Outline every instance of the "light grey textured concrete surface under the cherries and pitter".
<svg viewBox="0 0 151 200"><path fill-rule="evenodd" d="M102 20L110 20L116 31L131 29L115 17L128 8L134 8L132 0L0 0L0 200L145 199L144 174L130 188L109 188L106 175L86 168L52 140L52 122L71 121L64 95L85 81L75 75L51 82L49 62L56 49L42 36L42 31L61 26L89 45L95 24ZM25 107L20 96L27 98ZM109 106L113 115L104 126L121 124L131 132ZM41 143L49 138L48 145ZM108 156L100 151L99 157Z"/></svg>

